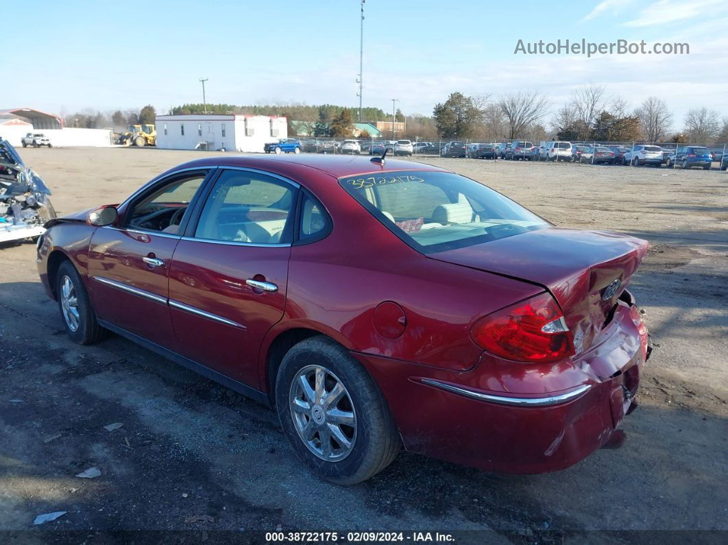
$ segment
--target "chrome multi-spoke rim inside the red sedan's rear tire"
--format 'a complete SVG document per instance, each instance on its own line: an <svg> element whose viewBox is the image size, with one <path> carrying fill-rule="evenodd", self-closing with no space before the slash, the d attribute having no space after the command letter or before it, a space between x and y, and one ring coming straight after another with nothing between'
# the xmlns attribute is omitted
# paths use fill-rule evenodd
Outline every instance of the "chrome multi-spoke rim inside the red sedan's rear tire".
<svg viewBox="0 0 728 545"><path fill-rule="evenodd" d="M349 391L330 370L307 365L296 373L288 396L298 437L318 458L347 458L357 439L357 416Z"/></svg>

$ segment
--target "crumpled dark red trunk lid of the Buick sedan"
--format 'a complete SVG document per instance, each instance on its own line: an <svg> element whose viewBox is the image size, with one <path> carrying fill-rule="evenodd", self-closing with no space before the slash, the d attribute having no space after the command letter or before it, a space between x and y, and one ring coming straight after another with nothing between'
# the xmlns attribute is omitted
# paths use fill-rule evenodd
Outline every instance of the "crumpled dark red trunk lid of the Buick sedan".
<svg viewBox="0 0 728 545"><path fill-rule="evenodd" d="M606 231L546 228L430 258L545 287L556 298L577 354L609 324L647 241Z"/></svg>

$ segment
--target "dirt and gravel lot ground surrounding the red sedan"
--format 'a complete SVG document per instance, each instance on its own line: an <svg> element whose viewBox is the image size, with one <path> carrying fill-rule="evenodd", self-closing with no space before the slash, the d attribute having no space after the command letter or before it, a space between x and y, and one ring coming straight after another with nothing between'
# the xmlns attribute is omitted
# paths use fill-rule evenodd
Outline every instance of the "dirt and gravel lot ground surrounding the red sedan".
<svg viewBox="0 0 728 545"><path fill-rule="evenodd" d="M21 154L60 214L119 202L203 155ZM491 530L503 541L574 543L589 530L728 530L728 174L427 161L559 226L649 240L632 290L656 349L620 450L535 476L402 453L362 485L330 485L298 462L271 410L121 338L68 341L33 244L16 244L0 249L0 530L41 541L49 534L40 530L60 529ZM103 428L116 422L116 431ZM92 466L100 477L74 477ZM36 515L56 511L67 513L33 527Z"/></svg>

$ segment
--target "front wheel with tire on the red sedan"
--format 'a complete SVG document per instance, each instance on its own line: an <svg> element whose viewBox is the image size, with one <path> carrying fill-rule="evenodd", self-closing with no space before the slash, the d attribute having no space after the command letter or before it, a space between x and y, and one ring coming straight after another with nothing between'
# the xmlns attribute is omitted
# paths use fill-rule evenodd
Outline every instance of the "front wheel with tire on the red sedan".
<svg viewBox="0 0 728 545"><path fill-rule="evenodd" d="M56 275L58 308L71 341L92 344L100 341L106 330L98 325L86 287L71 261L64 261Z"/></svg>

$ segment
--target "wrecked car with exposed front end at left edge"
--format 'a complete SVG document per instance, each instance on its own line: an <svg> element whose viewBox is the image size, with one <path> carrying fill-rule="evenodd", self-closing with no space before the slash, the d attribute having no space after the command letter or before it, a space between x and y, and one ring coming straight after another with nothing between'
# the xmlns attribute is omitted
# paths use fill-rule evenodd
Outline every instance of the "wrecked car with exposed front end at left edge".
<svg viewBox="0 0 728 545"><path fill-rule="evenodd" d="M49 195L41 177L0 138L0 243L41 236L44 223L55 218Z"/></svg>

